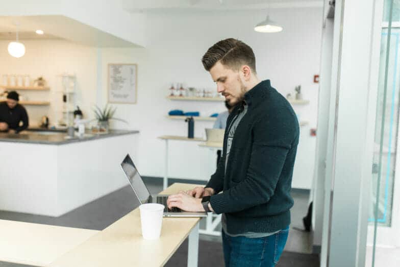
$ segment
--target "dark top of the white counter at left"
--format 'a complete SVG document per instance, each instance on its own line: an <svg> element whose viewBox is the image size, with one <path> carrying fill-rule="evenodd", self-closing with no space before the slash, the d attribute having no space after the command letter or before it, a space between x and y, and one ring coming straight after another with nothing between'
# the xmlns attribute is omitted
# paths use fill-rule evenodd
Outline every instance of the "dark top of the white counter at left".
<svg viewBox="0 0 400 267"><path fill-rule="evenodd" d="M70 138L65 132L57 131L22 131L18 134L0 133L0 142L16 143L40 143L40 144L68 144L74 142L89 141L101 138L114 137L126 134L136 134L139 131L110 130L105 134L85 133L82 137Z"/></svg>

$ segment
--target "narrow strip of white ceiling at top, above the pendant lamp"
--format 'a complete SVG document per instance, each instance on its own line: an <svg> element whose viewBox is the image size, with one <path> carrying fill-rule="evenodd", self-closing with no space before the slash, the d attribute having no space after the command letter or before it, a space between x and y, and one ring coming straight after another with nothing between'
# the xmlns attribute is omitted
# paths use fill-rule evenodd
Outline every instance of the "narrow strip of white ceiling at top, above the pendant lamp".
<svg viewBox="0 0 400 267"><path fill-rule="evenodd" d="M269 8L322 7L323 0L122 0L129 12L152 12L173 9L244 10Z"/></svg>

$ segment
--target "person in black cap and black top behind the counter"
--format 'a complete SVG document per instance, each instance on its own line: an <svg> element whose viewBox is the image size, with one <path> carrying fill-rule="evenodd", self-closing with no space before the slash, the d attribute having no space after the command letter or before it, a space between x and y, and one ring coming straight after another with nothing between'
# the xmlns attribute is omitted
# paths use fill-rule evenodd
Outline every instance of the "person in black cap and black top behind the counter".
<svg viewBox="0 0 400 267"><path fill-rule="evenodd" d="M19 133L28 128L29 120L26 109L18 104L16 91L7 94L7 100L0 103L0 131ZM19 123L22 122L22 126Z"/></svg>

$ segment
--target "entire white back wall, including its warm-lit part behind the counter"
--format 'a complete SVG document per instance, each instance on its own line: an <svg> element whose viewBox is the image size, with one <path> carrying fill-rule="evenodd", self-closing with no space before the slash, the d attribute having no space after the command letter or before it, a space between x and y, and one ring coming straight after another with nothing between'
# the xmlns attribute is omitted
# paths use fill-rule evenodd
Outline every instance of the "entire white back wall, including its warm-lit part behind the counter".
<svg viewBox="0 0 400 267"><path fill-rule="evenodd" d="M318 85L313 75L319 71L322 8L275 9L271 18L284 26L278 34L260 34L254 25L264 19L264 11L235 12L168 12L147 15L146 48L94 48L64 41L26 42L27 55L21 59L7 56L7 42L0 42L0 75L28 73L44 75L49 81L63 71L75 72L82 92L84 113L96 101L107 100L107 64L138 64L138 101L136 105L116 105L116 116L129 125L115 123L115 128L140 131L136 163L145 176L161 177L164 173L164 143L160 135L186 135L187 124L165 118L171 109L201 111L210 115L223 111L223 103L173 102L165 98L171 83L215 90L215 84L201 64L201 58L215 42L238 38L253 47L259 78L270 79L282 94L294 92L301 84L306 106L295 107L308 126L301 128L301 141L293 176L293 187L310 188L314 168L315 137L309 135L316 126ZM30 56L36 47L36 58ZM3 61L4 59L4 61ZM97 66L99 69L96 69ZM96 73L99 75L96 76ZM33 75L34 74L34 75ZM56 82L51 84L55 87ZM53 108L53 107L52 107ZM51 109L52 109L51 108ZM204 136L211 122L196 122L195 135ZM208 179L210 153L195 142L173 142L170 145L170 177Z"/></svg>

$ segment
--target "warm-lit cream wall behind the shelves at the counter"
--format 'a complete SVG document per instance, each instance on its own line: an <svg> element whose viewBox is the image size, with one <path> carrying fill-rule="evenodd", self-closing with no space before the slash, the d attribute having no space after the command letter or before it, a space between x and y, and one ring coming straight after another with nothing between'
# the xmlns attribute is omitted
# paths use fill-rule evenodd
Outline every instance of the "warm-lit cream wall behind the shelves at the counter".
<svg viewBox="0 0 400 267"><path fill-rule="evenodd" d="M0 76L29 75L32 80L39 76L47 81L49 91L18 91L29 101L50 101L50 106L25 106L31 126L38 126L40 118L48 115L51 124L62 117L62 87L58 75L68 72L77 75L77 103L85 114L92 113L95 104L96 53L93 47L77 45L61 40L26 41L26 54L13 58L7 52L9 41L0 41ZM1 83L0 82L0 83Z"/></svg>

